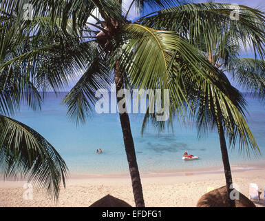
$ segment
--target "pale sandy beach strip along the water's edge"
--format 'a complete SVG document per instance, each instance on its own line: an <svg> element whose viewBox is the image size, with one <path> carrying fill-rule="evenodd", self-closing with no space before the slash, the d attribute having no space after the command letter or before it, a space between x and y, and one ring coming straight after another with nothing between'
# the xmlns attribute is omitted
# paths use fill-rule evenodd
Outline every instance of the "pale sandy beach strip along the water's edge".
<svg viewBox="0 0 265 221"><path fill-rule="evenodd" d="M210 171L142 174L141 179L146 206L193 207L209 187L225 185L224 173ZM261 200L255 204L265 206L265 169L233 171L233 182L247 197L249 184L257 183L262 193ZM131 180L127 175L70 175L57 203L34 187L32 200L25 200L24 184L25 181L1 180L0 206L89 206L107 194L134 206Z"/></svg>

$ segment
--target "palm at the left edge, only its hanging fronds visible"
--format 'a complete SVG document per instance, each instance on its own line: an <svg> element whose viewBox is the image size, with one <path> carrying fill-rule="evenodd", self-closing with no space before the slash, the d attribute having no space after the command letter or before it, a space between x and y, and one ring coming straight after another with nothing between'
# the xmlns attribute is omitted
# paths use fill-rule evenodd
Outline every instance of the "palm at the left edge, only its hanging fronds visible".
<svg viewBox="0 0 265 221"><path fill-rule="evenodd" d="M59 198L61 182L65 186L67 166L54 146L43 136L11 118L22 102L40 109L42 97L27 77L27 68L13 62L23 48L23 39L16 39L14 23L17 15L8 14L9 3L0 3L0 170L5 179L26 178L41 187L54 200ZM35 185L36 184L36 185Z"/></svg>

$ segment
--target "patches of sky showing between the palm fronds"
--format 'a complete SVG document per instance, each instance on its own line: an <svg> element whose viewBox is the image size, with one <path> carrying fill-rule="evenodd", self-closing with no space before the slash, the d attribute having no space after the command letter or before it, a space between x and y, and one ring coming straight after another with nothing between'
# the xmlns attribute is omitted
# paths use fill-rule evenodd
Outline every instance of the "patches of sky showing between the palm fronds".
<svg viewBox="0 0 265 221"><path fill-rule="evenodd" d="M189 1L189 0L188 0ZM194 3L203 3L203 2L207 2L209 0L190 0ZM233 4L241 4L244 6L248 6L251 8L257 8L259 10L265 11L265 0L219 0L219 1L213 1L215 3L233 3ZM131 0L124 0L123 1L123 9L125 10L125 12L127 12L129 6L131 4ZM145 14L148 14L151 11L146 11ZM94 15L96 15L96 11L94 12ZM138 17L140 17L140 15L138 14L138 12L136 12L136 9L133 7L131 7L131 10L129 10L129 14L127 16L127 19L134 21L135 19L137 19ZM95 23L96 20L94 20L93 18L88 20L91 23ZM248 50L248 52L243 52L242 53L242 57L253 57L253 53L251 53L250 50ZM74 81L70 81L70 85L68 87L65 88L65 90L70 90L74 84L76 84L77 78ZM234 85L234 83L232 82L232 84ZM235 85L234 85L235 86Z"/></svg>

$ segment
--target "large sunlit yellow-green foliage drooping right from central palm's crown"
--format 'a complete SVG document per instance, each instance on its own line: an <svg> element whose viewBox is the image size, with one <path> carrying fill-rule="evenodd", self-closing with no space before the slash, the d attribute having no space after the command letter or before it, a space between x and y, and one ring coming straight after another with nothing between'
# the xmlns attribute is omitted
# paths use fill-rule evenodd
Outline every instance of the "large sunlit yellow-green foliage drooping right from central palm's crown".
<svg viewBox="0 0 265 221"><path fill-rule="evenodd" d="M244 119L244 98L197 49L176 32L131 24L126 33L129 37L114 60L129 73L134 88L169 89L168 126L172 127L175 117L179 122L191 117L197 119L199 128L209 129L218 126L221 117L231 146L239 137L240 150L243 146L258 150ZM218 106L221 111L216 112ZM143 128L148 119L158 128L165 128L166 122L158 122L156 113L146 113Z"/></svg>

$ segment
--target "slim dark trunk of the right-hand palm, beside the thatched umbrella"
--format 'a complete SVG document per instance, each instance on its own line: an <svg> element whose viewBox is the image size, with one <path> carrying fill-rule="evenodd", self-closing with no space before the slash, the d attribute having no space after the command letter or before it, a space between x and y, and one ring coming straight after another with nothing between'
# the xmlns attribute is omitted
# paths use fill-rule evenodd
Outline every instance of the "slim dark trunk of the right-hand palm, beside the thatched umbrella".
<svg viewBox="0 0 265 221"><path fill-rule="evenodd" d="M224 137L224 128L222 126L222 122L219 122L219 139L220 139L220 147L221 147L221 153L222 153L222 162L224 164L224 175L226 178L226 190L227 190L227 198L229 200L229 206L230 207L235 207L235 200L232 200L230 198L231 191L233 189L230 189L231 184L233 184L232 181L232 173L231 173L231 168L230 168L230 163L229 163L229 155L227 153L227 148L226 148L226 140Z"/></svg>

